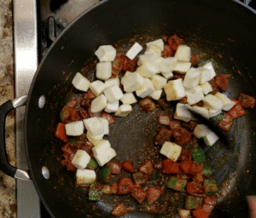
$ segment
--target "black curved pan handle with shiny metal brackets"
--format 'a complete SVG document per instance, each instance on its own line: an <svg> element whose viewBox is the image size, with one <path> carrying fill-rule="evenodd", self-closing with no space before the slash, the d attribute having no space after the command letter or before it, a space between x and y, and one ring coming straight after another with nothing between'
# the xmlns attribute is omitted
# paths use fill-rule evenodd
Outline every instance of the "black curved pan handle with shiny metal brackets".
<svg viewBox="0 0 256 218"><path fill-rule="evenodd" d="M25 106L27 100L27 95L14 100L8 100L0 106L0 170L4 174L16 179L30 181L30 176L26 170L17 169L11 164L9 164L7 154L6 154L6 144L5 144L5 120L7 114L19 106Z"/></svg>

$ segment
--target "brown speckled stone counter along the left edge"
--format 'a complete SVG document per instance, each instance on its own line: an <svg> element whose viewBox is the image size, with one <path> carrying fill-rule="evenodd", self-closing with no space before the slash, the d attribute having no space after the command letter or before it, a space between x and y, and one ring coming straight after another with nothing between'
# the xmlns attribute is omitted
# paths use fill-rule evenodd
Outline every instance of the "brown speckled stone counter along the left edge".
<svg viewBox="0 0 256 218"><path fill-rule="evenodd" d="M14 53L12 1L0 0L0 105L14 98ZM6 122L6 143L10 164L16 164L15 112ZM16 217L15 179L0 172L0 217Z"/></svg>

